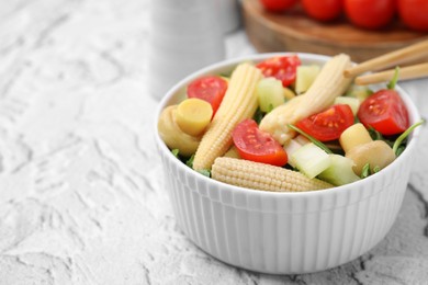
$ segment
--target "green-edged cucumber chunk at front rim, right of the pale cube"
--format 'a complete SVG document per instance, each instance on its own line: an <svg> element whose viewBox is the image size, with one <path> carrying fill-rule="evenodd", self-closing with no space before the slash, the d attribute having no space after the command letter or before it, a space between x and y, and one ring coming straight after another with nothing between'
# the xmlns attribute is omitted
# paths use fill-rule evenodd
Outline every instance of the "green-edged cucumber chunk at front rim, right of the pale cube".
<svg viewBox="0 0 428 285"><path fill-rule="evenodd" d="M330 166L319 173L318 178L336 186L345 185L360 180L353 172L353 161L339 155L329 155Z"/></svg>

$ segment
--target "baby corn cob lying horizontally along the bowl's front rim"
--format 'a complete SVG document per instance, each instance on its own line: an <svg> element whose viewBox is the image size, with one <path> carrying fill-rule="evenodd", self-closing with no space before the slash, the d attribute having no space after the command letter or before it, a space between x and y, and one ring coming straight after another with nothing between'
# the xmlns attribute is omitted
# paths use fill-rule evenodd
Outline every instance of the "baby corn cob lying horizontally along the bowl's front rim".
<svg viewBox="0 0 428 285"><path fill-rule="evenodd" d="M327 182L308 179L296 171L226 157L215 159L211 175L217 181L236 186L273 192L302 192L333 187Z"/></svg>

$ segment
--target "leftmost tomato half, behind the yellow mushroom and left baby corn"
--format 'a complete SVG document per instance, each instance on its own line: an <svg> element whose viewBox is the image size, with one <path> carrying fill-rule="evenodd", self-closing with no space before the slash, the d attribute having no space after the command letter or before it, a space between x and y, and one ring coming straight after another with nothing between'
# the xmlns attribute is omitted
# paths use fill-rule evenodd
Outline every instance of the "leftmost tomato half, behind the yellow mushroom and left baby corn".
<svg viewBox="0 0 428 285"><path fill-rule="evenodd" d="M217 112L227 90L227 81L217 76L205 76L193 80L188 86L188 98L205 100L213 107L213 116Z"/></svg>

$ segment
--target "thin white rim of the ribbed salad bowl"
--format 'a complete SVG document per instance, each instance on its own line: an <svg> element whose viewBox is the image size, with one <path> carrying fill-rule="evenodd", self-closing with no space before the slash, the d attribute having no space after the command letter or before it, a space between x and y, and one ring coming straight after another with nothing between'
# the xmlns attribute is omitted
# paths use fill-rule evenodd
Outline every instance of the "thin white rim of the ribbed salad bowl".
<svg viewBox="0 0 428 285"><path fill-rule="evenodd" d="M302 61L313 60L313 61L318 61L318 62L325 62L326 60L331 58L331 56L326 56L326 55L308 54L308 53L292 53L292 52L254 54L254 55L234 57L234 58L225 59L225 60L209 65L202 69L199 69L199 70L190 73L189 76L187 76L185 78L180 80L178 83L176 83L173 87L171 87L168 90L166 95L159 102L157 110L156 110L154 128L155 128L155 137L156 137L155 140L156 140L156 144L158 145L158 150L165 152L165 155L166 155L165 157L167 157L168 159L171 159L172 163L174 163L174 166L178 167L181 171L184 171L187 174L190 174L190 175L195 175L195 179L202 180L205 183L209 183L209 184L213 183L213 185L216 186L216 189L218 189L218 191L226 191L226 190L227 191L237 191L241 195L258 195L258 196L263 196L263 197L275 197L275 198L278 198L278 197L319 197L319 195L325 196L325 195L330 195L330 194L336 195L336 194L339 194L342 192L353 191L353 189L356 186L360 187L360 190L364 191L365 187L361 187L361 185L363 185L364 183L365 184L372 183L372 182L374 182L374 180L378 180L379 178L381 178L381 175L382 176L391 175L391 172L393 171L393 169L395 167L397 167L398 164L401 164L401 161L408 159L407 157L410 156L412 152L415 151L415 148L417 147L418 137L419 137L419 134L421 132L420 129L421 129L421 127L425 127L425 125L416 128L410 134L410 140L407 144L405 151L403 151L401 153L401 156L397 157L393 161L393 163L391 163L386 168L382 169L382 171L380 171L379 173L375 173L375 174L370 175L365 179L362 179L362 180L359 180L359 181L356 181L356 182L352 182L349 184L345 184L341 186L334 186L330 189L324 189L324 190L319 190L319 191L303 191L303 192L262 191L262 190L247 189L247 187L227 184L227 183L224 183L221 181L216 181L212 178L207 178L207 176L192 170L191 168L185 166L182 161L177 159L171 153L169 148L166 146L166 144L162 141L162 139L159 136L157 124L158 124L158 119L159 119L161 111L165 107L167 107L168 105L170 105L169 102L173 98L176 92L178 92L178 91L180 91L180 89L184 88L185 84L189 83L191 80L193 80L200 76L206 75L206 73L213 73L213 71L217 70L217 69L222 69L222 68L223 69L226 69L226 68L233 69L234 67L236 67L236 65L238 65L239 62L243 62L243 61L260 61L260 60L273 57L273 56L289 56L289 55L297 55L302 59ZM399 87L399 84L397 84L395 87L395 89L398 91L398 93L401 94L401 98L403 99L403 101L405 102L405 104L407 106L407 110L409 113L410 124L414 124L414 123L418 122L419 119L421 119L420 114L419 114L415 103L410 100L408 93L405 90L403 90ZM194 190L194 191L196 191L196 190ZM382 191L385 191L385 189L375 191L375 193L379 193ZM362 194L362 193L360 193L360 194ZM367 198L372 196L372 195L373 194L367 196ZM221 196L221 194L219 194L219 196ZM362 195L362 196L365 196L365 195Z"/></svg>

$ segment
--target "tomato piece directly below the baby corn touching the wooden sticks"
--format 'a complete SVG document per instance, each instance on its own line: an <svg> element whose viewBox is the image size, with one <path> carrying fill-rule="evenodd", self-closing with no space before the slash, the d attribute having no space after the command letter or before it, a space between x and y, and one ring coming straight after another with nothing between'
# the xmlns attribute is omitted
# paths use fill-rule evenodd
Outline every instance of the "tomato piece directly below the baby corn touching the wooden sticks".
<svg viewBox="0 0 428 285"><path fill-rule="evenodd" d="M337 104L301 119L296 126L320 141L328 141L338 139L353 121L351 107L347 104Z"/></svg>

